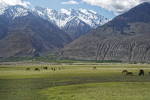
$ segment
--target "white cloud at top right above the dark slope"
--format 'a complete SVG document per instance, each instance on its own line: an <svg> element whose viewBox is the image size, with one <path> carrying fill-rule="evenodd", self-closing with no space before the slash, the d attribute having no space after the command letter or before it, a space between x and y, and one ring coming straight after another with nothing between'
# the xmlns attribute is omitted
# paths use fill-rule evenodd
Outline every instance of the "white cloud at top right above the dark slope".
<svg viewBox="0 0 150 100"><path fill-rule="evenodd" d="M150 2L150 0L82 0L90 5L99 6L115 14L121 14L136 5L143 2Z"/></svg>

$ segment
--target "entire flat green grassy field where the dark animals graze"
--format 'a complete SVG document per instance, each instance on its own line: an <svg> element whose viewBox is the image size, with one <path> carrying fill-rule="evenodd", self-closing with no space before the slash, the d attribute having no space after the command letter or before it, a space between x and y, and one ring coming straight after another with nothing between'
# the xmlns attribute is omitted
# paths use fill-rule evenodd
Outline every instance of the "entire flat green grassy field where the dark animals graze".
<svg viewBox="0 0 150 100"><path fill-rule="evenodd" d="M122 75L124 69L134 75ZM2 64L0 100L149 100L148 72L148 64Z"/></svg>

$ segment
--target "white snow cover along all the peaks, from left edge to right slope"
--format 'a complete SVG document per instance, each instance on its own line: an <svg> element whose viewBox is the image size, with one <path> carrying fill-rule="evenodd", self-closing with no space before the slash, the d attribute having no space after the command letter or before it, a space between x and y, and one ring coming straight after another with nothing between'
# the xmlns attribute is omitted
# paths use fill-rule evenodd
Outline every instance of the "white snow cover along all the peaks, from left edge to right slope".
<svg viewBox="0 0 150 100"><path fill-rule="evenodd" d="M81 8L78 10L60 9L59 11L56 11L49 8L35 7L29 9L20 5L9 6L5 3L0 3L0 15L7 13L9 16L15 18L26 16L29 12L39 15L40 17L56 24L60 28L63 28L66 23L71 21L74 17L78 17L80 20L91 26L91 28L96 28L97 26L103 25L109 21L95 11Z"/></svg>

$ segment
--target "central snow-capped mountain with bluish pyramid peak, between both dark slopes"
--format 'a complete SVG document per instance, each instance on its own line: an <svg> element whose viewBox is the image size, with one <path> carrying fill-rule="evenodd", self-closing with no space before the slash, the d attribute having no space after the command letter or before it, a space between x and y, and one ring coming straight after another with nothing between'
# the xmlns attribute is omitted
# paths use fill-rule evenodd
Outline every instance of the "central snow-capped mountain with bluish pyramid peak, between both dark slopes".
<svg viewBox="0 0 150 100"><path fill-rule="evenodd" d="M33 12L57 25L74 40L109 20L95 11L86 9L60 9L36 7Z"/></svg>

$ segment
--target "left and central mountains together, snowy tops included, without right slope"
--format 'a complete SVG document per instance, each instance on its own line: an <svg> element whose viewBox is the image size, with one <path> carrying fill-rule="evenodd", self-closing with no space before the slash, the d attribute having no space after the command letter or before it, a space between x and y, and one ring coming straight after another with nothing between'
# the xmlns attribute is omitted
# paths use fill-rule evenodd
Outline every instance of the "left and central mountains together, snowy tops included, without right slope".
<svg viewBox="0 0 150 100"><path fill-rule="evenodd" d="M0 57L39 56L63 48L107 21L91 10L56 11L1 3Z"/></svg>

